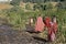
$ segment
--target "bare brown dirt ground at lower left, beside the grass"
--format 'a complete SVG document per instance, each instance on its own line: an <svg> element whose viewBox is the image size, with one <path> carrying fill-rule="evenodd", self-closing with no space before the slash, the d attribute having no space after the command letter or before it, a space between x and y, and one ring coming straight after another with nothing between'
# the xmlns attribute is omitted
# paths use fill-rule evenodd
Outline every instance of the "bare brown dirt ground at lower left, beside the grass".
<svg viewBox="0 0 66 44"><path fill-rule="evenodd" d="M32 37L28 32L14 31L8 25L0 25L0 44L45 44L45 40Z"/></svg>

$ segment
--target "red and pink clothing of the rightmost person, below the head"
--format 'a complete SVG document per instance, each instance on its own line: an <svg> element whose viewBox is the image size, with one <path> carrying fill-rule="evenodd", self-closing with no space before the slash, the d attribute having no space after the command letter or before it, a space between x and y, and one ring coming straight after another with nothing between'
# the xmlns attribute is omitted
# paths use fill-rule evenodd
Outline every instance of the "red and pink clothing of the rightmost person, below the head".
<svg viewBox="0 0 66 44"><path fill-rule="evenodd" d="M57 32L57 23L51 22L48 28L48 38L51 41L54 41L56 32Z"/></svg>

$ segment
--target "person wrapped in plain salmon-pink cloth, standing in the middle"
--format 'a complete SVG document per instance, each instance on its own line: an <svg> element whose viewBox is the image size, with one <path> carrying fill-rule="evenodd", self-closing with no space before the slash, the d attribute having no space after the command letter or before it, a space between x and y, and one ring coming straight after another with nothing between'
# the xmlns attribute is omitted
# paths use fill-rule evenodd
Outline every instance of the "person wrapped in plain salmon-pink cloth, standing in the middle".
<svg viewBox="0 0 66 44"><path fill-rule="evenodd" d="M44 22L43 22L43 18L41 15L38 15L36 22L35 22L35 32L43 32L44 30Z"/></svg>

